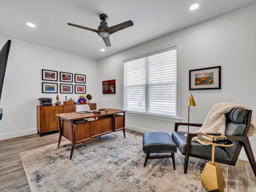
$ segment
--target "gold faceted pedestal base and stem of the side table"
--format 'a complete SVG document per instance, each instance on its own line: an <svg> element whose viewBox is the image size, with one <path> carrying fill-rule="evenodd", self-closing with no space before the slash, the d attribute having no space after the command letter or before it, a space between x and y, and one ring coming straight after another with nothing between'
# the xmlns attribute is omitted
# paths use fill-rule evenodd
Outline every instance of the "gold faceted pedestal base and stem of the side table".
<svg viewBox="0 0 256 192"><path fill-rule="evenodd" d="M214 163L215 146L212 145L212 161L206 163L200 176L207 191L224 192L225 180L219 164Z"/></svg>

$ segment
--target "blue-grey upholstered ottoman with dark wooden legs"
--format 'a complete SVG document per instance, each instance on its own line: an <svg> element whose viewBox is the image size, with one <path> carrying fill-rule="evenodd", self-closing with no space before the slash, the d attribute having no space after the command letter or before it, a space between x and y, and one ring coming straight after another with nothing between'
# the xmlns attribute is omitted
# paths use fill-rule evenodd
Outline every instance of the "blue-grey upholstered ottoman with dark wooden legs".
<svg viewBox="0 0 256 192"><path fill-rule="evenodd" d="M172 158L173 169L175 170L174 153L177 152L176 145L174 144L170 135L166 132L149 132L143 134L143 152L146 153L146 160L157 158ZM154 155L150 153L171 153L171 155Z"/></svg>

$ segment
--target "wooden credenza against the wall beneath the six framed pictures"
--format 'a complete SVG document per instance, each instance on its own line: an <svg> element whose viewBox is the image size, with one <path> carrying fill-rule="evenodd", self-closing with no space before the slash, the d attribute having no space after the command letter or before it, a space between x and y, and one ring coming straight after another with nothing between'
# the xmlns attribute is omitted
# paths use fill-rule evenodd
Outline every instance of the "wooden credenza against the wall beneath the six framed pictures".
<svg viewBox="0 0 256 192"><path fill-rule="evenodd" d="M88 103L90 110L96 110L96 103ZM55 114L76 112L76 105L36 106L36 128L42 134L59 130L58 117Z"/></svg>

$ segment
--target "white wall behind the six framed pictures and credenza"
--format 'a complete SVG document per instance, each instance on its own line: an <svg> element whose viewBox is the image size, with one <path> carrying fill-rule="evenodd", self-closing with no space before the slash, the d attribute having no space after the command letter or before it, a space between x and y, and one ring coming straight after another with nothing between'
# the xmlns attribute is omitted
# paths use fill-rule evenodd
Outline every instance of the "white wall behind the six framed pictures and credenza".
<svg viewBox="0 0 256 192"><path fill-rule="evenodd" d="M0 35L1 48L8 39L12 42L0 102L0 140L36 133L37 99L50 97L56 102L57 94L42 93L42 82L46 82L42 81L42 69L58 71L58 92L60 71L86 75L86 94L91 94L91 101L98 103L96 60ZM77 101L80 95L58 94L62 104L65 96Z"/></svg>

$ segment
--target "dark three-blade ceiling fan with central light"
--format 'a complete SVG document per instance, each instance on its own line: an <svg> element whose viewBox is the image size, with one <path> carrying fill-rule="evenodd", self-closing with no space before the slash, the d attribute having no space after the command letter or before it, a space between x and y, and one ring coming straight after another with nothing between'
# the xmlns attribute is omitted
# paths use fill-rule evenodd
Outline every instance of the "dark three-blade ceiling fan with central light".
<svg viewBox="0 0 256 192"><path fill-rule="evenodd" d="M109 40L110 34L117 32L119 30L125 29L127 27L133 26L133 22L131 20L129 20L129 21L117 24L115 26L108 27L108 23L106 22L106 20L108 20L108 16L106 14L100 14L100 20L102 20L102 22L100 22L100 26L98 26L98 30L80 26L80 25L76 25L76 24L72 24L72 23L68 23L68 25L71 25L74 27L79 27L82 29L86 29L86 30L90 30L90 31L98 33L98 35L102 37L102 39L105 42L107 47L111 46L110 40Z"/></svg>

